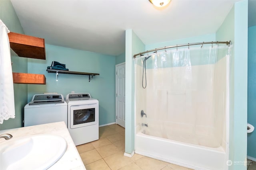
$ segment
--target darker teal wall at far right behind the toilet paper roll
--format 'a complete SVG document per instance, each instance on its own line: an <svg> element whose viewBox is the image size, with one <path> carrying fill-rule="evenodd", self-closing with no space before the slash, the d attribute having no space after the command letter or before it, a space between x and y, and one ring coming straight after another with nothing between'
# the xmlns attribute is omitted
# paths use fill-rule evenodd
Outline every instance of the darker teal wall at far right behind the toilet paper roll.
<svg viewBox="0 0 256 170"><path fill-rule="evenodd" d="M248 117L256 128L256 26L248 28ZM256 159L256 130L247 134L247 155Z"/></svg>

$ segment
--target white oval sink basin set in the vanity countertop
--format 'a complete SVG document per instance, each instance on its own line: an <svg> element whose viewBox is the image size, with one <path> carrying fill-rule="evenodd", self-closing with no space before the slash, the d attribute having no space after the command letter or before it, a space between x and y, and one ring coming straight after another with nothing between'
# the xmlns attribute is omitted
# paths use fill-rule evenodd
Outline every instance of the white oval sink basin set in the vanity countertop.
<svg viewBox="0 0 256 170"><path fill-rule="evenodd" d="M0 145L0 170L46 170L66 151L57 135L32 135L9 139Z"/></svg>

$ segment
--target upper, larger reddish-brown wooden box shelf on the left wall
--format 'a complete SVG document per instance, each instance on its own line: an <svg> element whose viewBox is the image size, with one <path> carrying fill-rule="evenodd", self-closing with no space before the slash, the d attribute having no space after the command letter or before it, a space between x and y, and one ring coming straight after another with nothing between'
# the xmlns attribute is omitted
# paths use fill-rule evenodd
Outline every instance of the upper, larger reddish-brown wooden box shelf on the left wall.
<svg viewBox="0 0 256 170"><path fill-rule="evenodd" d="M32 37L20 33L8 33L10 47L19 57L46 59L43 38Z"/></svg>

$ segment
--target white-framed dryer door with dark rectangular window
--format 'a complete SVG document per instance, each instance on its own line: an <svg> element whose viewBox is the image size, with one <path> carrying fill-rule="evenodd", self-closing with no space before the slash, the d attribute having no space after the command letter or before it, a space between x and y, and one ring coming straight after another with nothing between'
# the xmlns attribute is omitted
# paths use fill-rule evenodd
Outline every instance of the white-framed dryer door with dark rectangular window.
<svg viewBox="0 0 256 170"><path fill-rule="evenodd" d="M74 129L97 124L97 113L97 104L70 106L70 128Z"/></svg>

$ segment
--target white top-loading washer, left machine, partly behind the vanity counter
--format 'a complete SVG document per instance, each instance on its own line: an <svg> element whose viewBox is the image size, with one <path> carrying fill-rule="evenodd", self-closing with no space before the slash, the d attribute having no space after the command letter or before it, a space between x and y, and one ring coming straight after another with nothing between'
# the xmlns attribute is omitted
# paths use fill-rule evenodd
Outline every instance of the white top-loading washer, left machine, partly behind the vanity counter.
<svg viewBox="0 0 256 170"><path fill-rule="evenodd" d="M24 127L64 121L67 125L67 103L62 94L37 94L24 107Z"/></svg>

